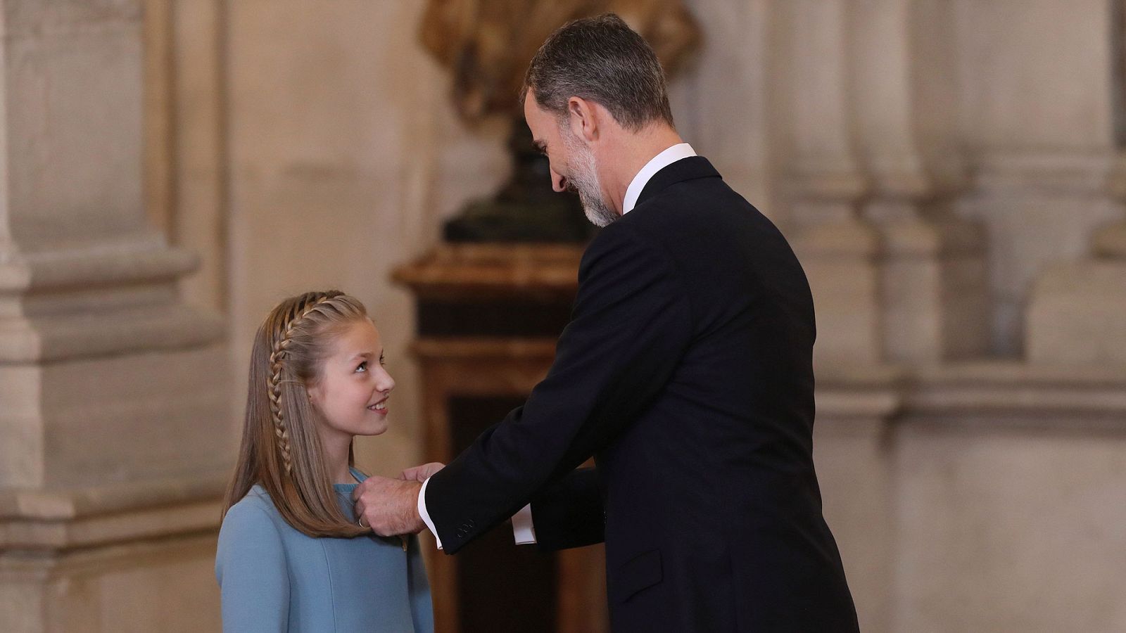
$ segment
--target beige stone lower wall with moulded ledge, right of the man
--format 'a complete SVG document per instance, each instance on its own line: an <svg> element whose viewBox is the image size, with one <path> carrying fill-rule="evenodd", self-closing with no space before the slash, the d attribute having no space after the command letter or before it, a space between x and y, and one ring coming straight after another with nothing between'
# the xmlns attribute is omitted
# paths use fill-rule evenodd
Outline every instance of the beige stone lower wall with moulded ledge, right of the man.
<svg viewBox="0 0 1126 633"><path fill-rule="evenodd" d="M823 367L814 457L865 631L1118 631L1126 372Z"/></svg>

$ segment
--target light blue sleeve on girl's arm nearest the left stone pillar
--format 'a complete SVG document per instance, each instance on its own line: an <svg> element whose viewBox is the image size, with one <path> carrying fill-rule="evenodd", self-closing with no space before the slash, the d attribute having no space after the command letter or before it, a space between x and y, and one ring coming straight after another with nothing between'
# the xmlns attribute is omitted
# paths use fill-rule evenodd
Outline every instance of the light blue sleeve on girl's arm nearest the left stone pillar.
<svg viewBox="0 0 1126 633"><path fill-rule="evenodd" d="M282 536L266 511L242 501L223 518L215 555L223 631L277 633L288 627L289 572Z"/></svg>

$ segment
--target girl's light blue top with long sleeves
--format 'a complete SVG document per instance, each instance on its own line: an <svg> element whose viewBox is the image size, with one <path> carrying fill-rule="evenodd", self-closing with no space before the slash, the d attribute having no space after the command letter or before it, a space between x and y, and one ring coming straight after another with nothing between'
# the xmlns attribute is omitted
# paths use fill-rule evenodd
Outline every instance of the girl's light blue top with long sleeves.
<svg viewBox="0 0 1126 633"><path fill-rule="evenodd" d="M363 481L361 473L352 475ZM356 484L336 484L349 518ZM314 538L278 514L260 485L227 510L215 578L223 631L432 633L434 613L418 538Z"/></svg>

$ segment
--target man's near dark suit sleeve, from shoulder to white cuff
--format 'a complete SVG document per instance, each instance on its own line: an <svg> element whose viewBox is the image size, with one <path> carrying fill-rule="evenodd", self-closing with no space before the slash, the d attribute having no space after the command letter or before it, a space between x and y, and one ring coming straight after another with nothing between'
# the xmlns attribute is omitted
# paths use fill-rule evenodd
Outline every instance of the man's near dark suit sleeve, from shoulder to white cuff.
<svg viewBox="0 0 1126 633"><path fill-rule="evenodd" d="M456 553L609 445L665 385L690 338L669 252L625 221L607 226L583 256L547 376L431 478L425 502L444 551Z"/></svg>

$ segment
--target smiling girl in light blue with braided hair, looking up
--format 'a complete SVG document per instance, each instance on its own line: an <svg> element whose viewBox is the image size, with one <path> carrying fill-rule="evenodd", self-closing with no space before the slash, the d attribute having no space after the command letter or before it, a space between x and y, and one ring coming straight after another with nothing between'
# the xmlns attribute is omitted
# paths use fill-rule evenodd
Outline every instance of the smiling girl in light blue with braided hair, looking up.
<svg viewBox="0 0 1126 633"><path fill-rule="evenodd" d="M254 337L215 577L223 630L434 631L418 541L357 523L352 438L387 429L379 332L341 292L283 301Z"/></svg>

